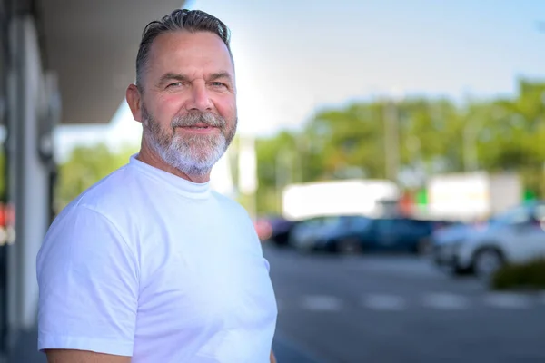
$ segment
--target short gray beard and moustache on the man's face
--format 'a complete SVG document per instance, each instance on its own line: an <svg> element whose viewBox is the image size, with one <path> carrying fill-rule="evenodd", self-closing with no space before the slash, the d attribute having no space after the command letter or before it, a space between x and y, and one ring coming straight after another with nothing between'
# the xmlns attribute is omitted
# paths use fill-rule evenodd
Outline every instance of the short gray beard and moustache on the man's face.
<svg viewBox="0 0 545 363"><path fill-rule="evenodd" d="M236 131L225 137L225 121L211 113L193 113L173 120L172 134L161 129L147 110L143 107L144 140L164 162L186 175L203 176L212 171L213 165L220 160L229 147ZM189 126L197 122L219 127L220 133L213 135L191 135L182 137L176 134L175 127ZM146 127L147 126L147 127Z"/></svg>

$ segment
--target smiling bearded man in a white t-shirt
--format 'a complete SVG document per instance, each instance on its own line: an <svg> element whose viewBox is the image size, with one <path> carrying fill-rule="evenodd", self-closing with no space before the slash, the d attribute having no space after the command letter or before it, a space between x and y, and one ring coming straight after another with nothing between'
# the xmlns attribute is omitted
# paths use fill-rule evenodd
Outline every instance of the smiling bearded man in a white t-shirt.
<svg viewBox="0 0 545 363"><path fill-rule="evenodd" d="M140 152L62 211L37 257L38 348L54 363L263 363L277 309L247 213L210 191L236 131L228 29L177 10L144 29Z"/></svg>

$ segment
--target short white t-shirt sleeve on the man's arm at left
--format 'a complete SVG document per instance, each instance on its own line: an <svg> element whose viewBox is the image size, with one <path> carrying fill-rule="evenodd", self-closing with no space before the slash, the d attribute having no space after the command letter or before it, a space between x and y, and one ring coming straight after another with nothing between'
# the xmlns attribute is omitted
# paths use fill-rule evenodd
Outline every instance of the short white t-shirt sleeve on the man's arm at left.
<svg viewBox="0 0 545 363"><path fill-rule="evenodd" d="M86 207L61 214L36 260L38 349L132 356L139 265L114 223Z"/></svg>

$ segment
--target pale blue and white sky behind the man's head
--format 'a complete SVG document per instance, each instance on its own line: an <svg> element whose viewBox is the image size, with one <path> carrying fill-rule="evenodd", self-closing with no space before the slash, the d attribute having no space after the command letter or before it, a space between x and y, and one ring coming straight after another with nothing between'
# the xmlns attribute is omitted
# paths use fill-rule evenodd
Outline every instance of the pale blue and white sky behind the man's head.
<svg viewBox="0 0 545 363"><path fill-rule="evenodd" d="M239 133L302 127L325 107L375 97L461 101L545 80L541 0L192 0L231 29ZM76 144L136 144L124 100L107 125L61 126L61 159Z"/></svg>

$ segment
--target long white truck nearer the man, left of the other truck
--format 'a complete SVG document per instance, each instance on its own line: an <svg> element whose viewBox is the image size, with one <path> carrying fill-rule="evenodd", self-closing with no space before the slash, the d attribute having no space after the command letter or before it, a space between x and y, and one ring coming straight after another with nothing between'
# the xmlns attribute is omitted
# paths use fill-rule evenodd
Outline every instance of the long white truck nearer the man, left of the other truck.
<svg viewBox="0 0 545 363"><path fill-rule="evenodd" d="M394 182L343 180L290 184L282 192L282 215L291 221L331 215L377 216L399 198Z"/></svg>

